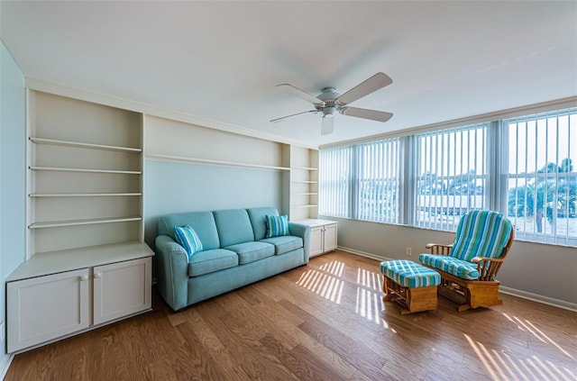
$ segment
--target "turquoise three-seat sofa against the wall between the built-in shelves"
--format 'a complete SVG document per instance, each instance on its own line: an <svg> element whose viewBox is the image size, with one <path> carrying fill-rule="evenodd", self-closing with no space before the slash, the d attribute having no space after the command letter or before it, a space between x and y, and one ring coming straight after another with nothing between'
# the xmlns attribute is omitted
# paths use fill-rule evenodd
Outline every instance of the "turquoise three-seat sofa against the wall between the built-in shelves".
<svg viewBox="0 0 577 381"><path fill-rule="evenodd" d="M308 263L310 228L289 222L289 235L266 238L275 208L175 213L159 218L156 273L160 295L177 311L190 304ZM175 227L190 226L202 250L188 258Z"/></svg>

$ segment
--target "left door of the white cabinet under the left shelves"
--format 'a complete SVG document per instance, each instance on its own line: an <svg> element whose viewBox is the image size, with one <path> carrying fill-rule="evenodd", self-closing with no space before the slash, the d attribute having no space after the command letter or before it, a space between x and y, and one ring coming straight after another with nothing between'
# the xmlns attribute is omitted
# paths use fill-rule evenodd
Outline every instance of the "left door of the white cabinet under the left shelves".
<svg viewBox="0 0 577 381"><path fill-rule="evenodd" d="M8 352L88 327L88 269L8 282Z"/></svg>

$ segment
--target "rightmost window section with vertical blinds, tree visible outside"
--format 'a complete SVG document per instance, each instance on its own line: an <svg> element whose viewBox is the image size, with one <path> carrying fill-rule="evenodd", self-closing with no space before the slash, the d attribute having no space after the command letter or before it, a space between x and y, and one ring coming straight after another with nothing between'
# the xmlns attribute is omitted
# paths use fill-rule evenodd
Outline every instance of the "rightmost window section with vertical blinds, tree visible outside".
<svg viewBox="0 0 577 381"><path fill-rule="evenodd" d="M577 108L503 121L507 213L517 237L577 241Z"/></svg>

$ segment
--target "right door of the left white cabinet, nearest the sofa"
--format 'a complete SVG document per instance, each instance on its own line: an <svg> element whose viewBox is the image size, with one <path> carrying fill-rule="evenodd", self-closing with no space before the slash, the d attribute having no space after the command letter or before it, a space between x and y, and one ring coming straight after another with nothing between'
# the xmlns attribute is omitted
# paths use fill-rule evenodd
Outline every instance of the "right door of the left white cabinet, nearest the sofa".
<svg viewBox="0 0 577 381"><path fill-rule="evenodd" d="M94 268L94 323L151 308L151 258Z"/></svg>

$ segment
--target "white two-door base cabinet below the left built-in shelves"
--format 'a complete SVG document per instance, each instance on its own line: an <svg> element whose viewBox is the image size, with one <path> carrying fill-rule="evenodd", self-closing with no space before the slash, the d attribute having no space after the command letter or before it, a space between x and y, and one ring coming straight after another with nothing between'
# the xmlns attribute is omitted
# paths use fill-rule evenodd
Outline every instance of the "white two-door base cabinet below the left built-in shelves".
<svg viewBox="0 0 577 381"><path fill-rule="evenodd" d="M103 249L112 252L114 246L117 245ZM150 249L141 243L123 246L133 250L142 248L142 253L148 256L43 274L50 272L50 268L38 271L42 264L35 262L42 259L39 260L41 255L37 255L25 262L23 268L18 268L6 283L7 305L10 306L6 321L8 352L30 349L106 322L149 311ZM80 252L79 257L87 257L83 254L86 253ZM56 257L60 258L51 261L66 260L67 255L60 253ZM70 262L72 267L80 264L75 260ZM79 262L78 258L76 262Z"/></svg>

